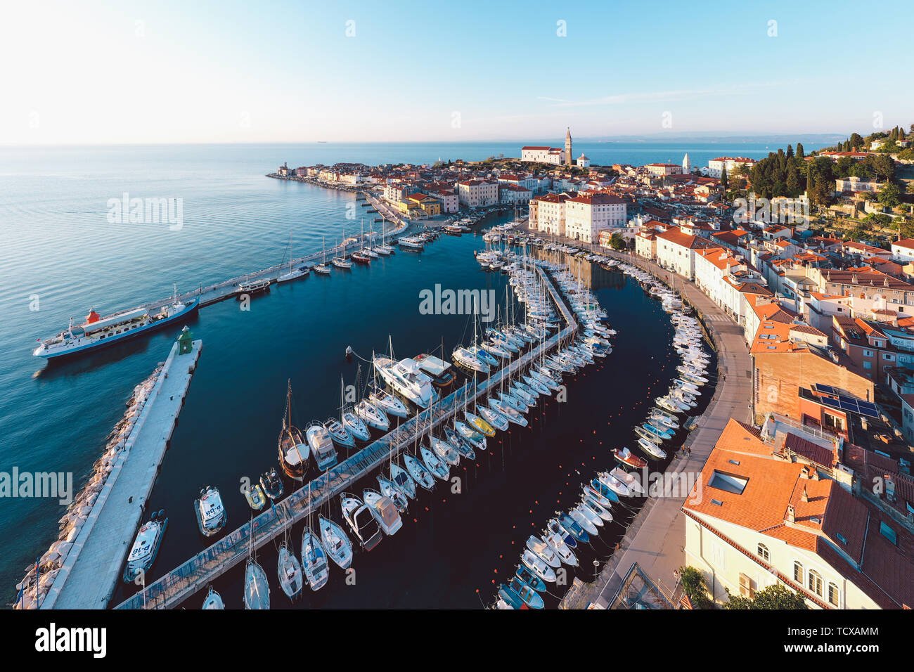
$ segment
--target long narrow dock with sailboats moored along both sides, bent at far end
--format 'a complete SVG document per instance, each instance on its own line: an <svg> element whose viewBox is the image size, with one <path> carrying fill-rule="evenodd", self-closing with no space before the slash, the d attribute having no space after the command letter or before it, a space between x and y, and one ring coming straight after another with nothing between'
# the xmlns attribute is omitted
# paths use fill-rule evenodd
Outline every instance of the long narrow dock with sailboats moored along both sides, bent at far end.
<svg viewBox="0 0 914 672"><path fill-rule="evenodd" d="M295 524L305 517L320 510L320 507L333 497L352 489L357 481L371 474L378 467L387 464L400 452L409 449L416 443L417 433L426 434L440 427L462 411L464 404L470 407L474 400L484 397L505 378L514 376L518 370L526 368L534 359L540 357L559 342L573 336L578 330L578 323L568 305L558 293L555 285L541 266L537 272L545 279L548 292L565 318L566 326L546 342L518 357L507 367L500 368L488 379L467 382L449 396L434 404L432 408L420 411L398 428L388 432L377 441L368 443L361 451L351 455L343 462L332 467L323 475L283 499L275 507L261 513L242 527L229 532L212 546L197 553L175 570L137 592L119 604L117 609L168 609L175 607L203 590L211 581L224 574L242 560L247 560L251 542L255 549L270 543L282 535L288 524ZM253 536L253 539L251 537Z"/></svg>

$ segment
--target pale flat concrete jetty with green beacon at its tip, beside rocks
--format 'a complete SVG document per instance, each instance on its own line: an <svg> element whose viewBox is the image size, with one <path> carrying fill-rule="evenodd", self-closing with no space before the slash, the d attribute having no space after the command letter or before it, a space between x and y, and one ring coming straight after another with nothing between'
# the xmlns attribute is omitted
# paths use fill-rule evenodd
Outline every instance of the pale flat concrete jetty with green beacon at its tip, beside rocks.
<svg viewBox="0 0 914 672"><path fill-rule="evenodd" d="M182 339L185 340L185 339ZM104 609L144 516L202 341L175 343L41 609Z"/></svg>

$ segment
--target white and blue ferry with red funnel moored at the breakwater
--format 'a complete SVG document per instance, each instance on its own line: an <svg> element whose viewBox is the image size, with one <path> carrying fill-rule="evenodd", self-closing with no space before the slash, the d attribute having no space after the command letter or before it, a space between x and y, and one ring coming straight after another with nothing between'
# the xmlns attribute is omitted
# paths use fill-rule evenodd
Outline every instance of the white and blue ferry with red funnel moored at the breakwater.
<svg viewBox="0 0 914 672"><path fill-rule="evenodd" d="M94 310L90 310L83 324L74 325L70 320L66 329L57 336L42 341L32 354L35 357L53 359L122 343L129 338L146 334L190 315L197 310L198 304L197 297L186 304L179 301L175 291L172 303L165 304L158 313L154 314L151 314L146 308L135 308L108 317L101 317Z"/></svg>

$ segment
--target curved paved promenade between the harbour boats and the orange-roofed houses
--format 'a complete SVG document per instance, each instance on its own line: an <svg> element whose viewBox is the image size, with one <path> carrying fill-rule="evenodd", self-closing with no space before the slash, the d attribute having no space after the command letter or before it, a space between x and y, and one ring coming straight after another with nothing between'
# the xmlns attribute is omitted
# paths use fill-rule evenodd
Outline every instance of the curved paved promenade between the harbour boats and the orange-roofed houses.
<svg viewBox="0 0 914 672"><path fill-rule="evenodd" d="M718 367L714 397L698 419L697 428L685 440L684 447L690 452L676 457L666 471L674 475L697 474L730 418L751 421L752 367L742 329L694 283L665 271L653 261L613 251L602 253L633 263L664 283L675 284L676 291L695 308L714 339ZM687 493L672 493L648 499L632 521L620 548L600 571L596 590L590 592L590 602L604 608L611 604L634 563L657 581L667 597L674 602L678 600L673 572L685 564L685 516L680 510L685 496Z"/></svg>

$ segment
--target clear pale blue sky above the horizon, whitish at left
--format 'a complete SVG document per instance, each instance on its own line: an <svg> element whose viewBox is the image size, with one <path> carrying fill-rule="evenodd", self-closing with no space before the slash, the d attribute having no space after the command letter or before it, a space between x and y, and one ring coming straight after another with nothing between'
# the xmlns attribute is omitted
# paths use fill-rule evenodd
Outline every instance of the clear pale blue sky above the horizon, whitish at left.
<svg viewBox="0 0 914 672"><path fill-rule="evenodd" d="M912 7L7 4L0 144L868 133L914 123Z"/></svg>

